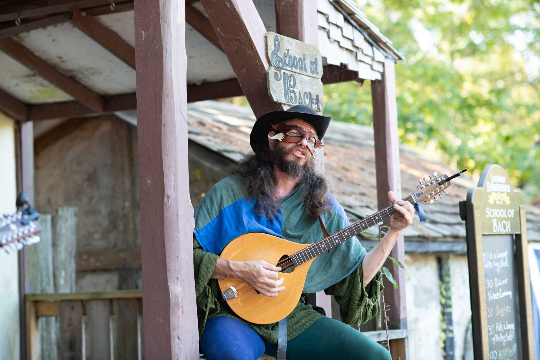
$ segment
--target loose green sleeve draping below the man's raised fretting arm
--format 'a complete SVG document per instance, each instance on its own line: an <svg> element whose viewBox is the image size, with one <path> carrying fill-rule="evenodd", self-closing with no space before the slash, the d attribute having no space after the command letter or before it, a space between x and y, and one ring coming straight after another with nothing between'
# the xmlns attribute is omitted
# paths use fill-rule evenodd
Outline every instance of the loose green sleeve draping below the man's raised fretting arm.
<svg viewBox="0 0 540 360"><path fill-rule="evenodd" d="M360 325L379 314L377 322L381 326L380 294L384 289L382 285L382 271L379 270L367 286L364 285L362 263L345 279L325 289L327 295L334 295L340 305L341 321L347 325Z"/></svg>

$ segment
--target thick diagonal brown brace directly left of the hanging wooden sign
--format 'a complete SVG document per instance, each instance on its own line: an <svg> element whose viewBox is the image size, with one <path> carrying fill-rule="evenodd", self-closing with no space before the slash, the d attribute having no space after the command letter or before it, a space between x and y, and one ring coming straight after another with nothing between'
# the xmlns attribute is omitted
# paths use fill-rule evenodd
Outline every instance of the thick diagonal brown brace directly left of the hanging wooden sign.
<svg viewBox="0 0 540 360"><path fill-rule="evenodd" d="M201 0L255 116L283 110L268 96L266 28L251 0ZM239 50L241 49L241 51Z"/></svg>

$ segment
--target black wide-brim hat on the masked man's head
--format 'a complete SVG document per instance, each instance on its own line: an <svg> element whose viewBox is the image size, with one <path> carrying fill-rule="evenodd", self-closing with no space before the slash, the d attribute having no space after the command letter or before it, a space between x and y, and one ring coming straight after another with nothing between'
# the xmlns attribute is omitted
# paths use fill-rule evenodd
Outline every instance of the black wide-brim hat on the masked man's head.
<svg viewBox="0 0 540 360"><path fill-rule="evenodd" d="M315 110L306 105L295 105L285 111L279 110L267 112L255 121L253 129L251 130L251 135L249 135L249 144L251 144L253 151L257 152L259 150L262 141L268 141L268 133L273 130L270 124L295 118L304 120L309 123L309 125L313 126L319 140L322 140L328 125L330 125L332 116L319 115Z"/></svg>

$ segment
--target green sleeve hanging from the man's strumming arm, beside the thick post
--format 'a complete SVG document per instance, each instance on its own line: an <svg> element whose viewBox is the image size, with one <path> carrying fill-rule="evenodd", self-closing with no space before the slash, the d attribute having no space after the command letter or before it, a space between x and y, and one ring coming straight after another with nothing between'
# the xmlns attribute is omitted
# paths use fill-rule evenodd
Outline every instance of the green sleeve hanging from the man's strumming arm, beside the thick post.
<svg viewBox="0 0 540 360"><path fill-rule="evenodd" d="M197 298L197 315L199 320L199 337L203 335L208 315L218 313L220 304L217 279L210 279L219 256L207 253L193 236L193 267L195 275L195 297Z"/></svg>

